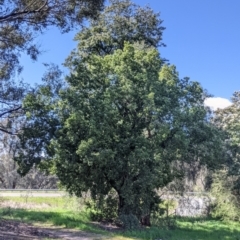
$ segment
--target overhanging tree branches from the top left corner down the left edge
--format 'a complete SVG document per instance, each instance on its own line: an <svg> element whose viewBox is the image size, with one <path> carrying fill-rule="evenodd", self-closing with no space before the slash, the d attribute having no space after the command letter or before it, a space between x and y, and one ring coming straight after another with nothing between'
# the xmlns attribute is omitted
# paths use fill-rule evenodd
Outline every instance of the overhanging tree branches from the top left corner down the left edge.
<svg viewBox="0 0 240 240"><path fill-rule="evenodd" d="M21 113L26 86L17 84L21 72L21 54L33 60L41 52L34 39L44 29L56 26L62 32L82 24L85 18L96 18L104 0L17 0L0 1L0 119L15 118ZM11 79L11 80L10 80ZM9 126L0 131L16 133Z"/></svg>

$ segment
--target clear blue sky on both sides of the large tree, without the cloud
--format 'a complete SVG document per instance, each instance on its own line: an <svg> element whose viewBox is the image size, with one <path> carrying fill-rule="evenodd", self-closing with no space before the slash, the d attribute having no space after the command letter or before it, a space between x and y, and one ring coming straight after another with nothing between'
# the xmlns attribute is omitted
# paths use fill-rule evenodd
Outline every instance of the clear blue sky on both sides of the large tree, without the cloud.
<svg viewBox="0 0 240 240"><path fill-rule="evenodd" d="M240 90L240 0L134 0L161 13L162 57L177 66L180 77L199 81L216 97L230 99ZM50 29L37 41L43 54L37 63L23 56L25 81L39 82L43 62L61 64L76 46L75 33Z"/></svg>

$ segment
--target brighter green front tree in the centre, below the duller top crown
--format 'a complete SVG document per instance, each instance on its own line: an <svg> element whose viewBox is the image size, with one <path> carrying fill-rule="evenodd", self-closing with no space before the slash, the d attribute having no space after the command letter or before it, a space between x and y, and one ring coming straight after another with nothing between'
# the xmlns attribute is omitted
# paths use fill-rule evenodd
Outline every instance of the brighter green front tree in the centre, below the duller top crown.
<svg viewBox="0 0 240 240"><path fill-rule="evenodd" d="M154 189L174 176L170 163L183 161L194 141L201 146L210 129L201 87L179 80L174 67L160 69L155 49L127 43L76 65L61 95L63 127L53 143L68 191L80 196L90 189L94 197L114 188L119 215L150 215L159 202Z"/></svg>

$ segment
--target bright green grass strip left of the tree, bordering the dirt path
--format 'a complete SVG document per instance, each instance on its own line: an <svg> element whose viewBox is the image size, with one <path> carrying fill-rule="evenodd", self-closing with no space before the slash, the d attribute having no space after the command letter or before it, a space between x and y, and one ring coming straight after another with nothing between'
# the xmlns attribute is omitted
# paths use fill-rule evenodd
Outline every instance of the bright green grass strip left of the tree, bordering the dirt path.
<svg viewBox="0 0 240 240"><path fill-rule="evenodd" d="M0 216L20 220L26 223L42 223L51 224L54 226L62 226L66 228L76 228L84 231L91 231L96 233L103 232L97 229L96 226L91 224L85 212L72 212L72 211L39 211L27 209L0 209Z"/></svg>

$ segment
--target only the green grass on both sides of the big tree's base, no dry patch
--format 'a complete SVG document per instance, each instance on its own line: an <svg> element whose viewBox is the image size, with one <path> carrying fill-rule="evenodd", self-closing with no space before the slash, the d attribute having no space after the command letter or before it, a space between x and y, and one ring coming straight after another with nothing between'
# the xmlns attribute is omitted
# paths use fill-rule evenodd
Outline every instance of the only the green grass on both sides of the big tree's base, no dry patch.
<svg viewBox="0 0 240 240"><path fill-rule="evenodd" d="M27 210L2 208L0 216L26 223L42 223L63 228L106 233L100 227L90 222L84 212ZM167 229L152 226L133 231L119 231L114 235L137 238L139 240L240 240L240 224L237 222L222 222L209 218L177 218L177 227Z"/></svg>

